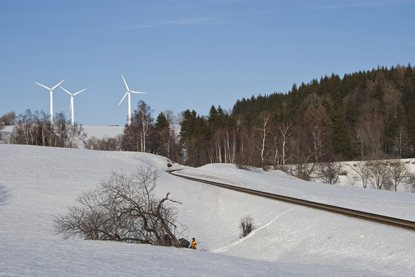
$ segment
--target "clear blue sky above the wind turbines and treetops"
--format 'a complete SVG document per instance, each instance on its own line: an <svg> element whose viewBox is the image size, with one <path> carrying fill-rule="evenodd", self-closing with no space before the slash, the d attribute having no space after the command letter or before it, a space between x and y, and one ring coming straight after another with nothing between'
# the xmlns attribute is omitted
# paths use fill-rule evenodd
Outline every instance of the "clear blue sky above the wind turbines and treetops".
<svg viewBox="0 0 415 277"><path fill-rule="evenodd" d="M0 0L0 116L49 113L45 86L75 96L75 121L126 124L154 110L207 115L324 75L415 65L415 1ZM70 96L53 93L71 119Z"/></svg>

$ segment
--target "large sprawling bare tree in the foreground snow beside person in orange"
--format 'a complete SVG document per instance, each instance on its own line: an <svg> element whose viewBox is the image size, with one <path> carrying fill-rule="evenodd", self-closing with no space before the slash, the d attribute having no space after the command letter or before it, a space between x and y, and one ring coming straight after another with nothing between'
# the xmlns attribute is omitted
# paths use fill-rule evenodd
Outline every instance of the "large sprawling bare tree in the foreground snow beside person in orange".
<svg viewBox="0 0 415 277"><path fill-rule="evenodd" d="M176 209L167 204L179 203L169 194L157 198L154 189L160 173L151 167L140 167L126 175L113 172L92 191L77 198L77 204L55 217L55 232L64 238L165 245L169 234L172 244L178 240Z"/></svg>

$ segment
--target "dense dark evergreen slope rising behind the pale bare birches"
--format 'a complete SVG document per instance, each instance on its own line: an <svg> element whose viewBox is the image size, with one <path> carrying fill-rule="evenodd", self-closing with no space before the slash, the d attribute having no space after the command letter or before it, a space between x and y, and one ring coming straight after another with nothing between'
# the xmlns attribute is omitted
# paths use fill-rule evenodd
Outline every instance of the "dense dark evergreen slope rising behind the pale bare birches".
<svg viewBox="0 0 415 277"><path fill-rule="evenodd" d="M264 111L272 113L273 124L301 126L308 133L324 128L326 146L337 160L380 153L414 156L415 71L410 64L294 84L286 94L238 100L232 114L250 126L259 124Z"/></svg>

